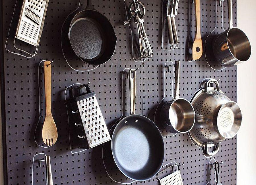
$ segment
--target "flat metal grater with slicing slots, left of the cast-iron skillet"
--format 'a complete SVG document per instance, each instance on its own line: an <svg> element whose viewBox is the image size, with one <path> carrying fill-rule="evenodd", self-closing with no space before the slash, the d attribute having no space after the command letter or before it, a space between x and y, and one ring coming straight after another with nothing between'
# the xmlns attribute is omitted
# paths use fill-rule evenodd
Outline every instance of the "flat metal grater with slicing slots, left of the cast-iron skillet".
<svg viewBox="0 0 256 185"><path fill-rule="evenodd" d="M16 38L38 46L49 0L24 0L16 29Z"/></svg>

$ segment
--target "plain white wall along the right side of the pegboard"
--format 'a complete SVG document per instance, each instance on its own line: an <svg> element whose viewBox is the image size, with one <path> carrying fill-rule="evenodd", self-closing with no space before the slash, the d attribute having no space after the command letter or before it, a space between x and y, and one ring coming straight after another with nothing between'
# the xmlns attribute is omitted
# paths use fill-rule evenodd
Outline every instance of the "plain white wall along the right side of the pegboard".
<svg viewBox="0 0 256 185"><path fill-rule="evenodd" d="M252 55L238 66L238 104L243 121L238 133L237 184L256 184L256 1L237 0L237 25L249 37Z"/></svg>

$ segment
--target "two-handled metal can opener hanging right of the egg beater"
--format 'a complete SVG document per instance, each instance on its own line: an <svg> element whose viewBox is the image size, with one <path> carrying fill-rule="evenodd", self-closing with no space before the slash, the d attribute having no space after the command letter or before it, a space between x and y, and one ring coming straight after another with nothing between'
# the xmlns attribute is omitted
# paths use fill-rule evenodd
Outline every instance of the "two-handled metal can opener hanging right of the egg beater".
<svg viewBox="0 0 256 185"><path fill-rule="evenodd" d="M169 33L169 44L171 48L179 47L179 39L176 29L175 15L178 14L179 0L168 0L167 3L167 22Z"/></svg>

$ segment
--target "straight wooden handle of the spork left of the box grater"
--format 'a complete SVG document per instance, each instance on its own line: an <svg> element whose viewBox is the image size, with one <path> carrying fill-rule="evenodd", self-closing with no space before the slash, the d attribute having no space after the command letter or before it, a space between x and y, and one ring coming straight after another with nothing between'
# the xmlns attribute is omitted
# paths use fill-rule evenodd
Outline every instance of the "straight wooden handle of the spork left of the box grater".
<svg viewBox="0 0 256 185"><path fill-rule="evenodd" d="M46 114L51 114L51 61L44 62L44 90Z"/></svg>

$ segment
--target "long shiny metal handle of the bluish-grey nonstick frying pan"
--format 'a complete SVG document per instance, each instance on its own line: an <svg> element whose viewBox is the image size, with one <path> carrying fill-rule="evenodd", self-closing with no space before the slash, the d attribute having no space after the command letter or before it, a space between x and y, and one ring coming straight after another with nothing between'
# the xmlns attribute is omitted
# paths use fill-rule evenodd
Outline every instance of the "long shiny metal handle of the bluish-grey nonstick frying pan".
<svg viewBox="0 0 256 185"><path fill-rule="evenodd" d="M130 84L130 101L131 101L131 115L135 114L135 97L136 97L136 70L130 69L129 71L129 84Z"/></svg>

